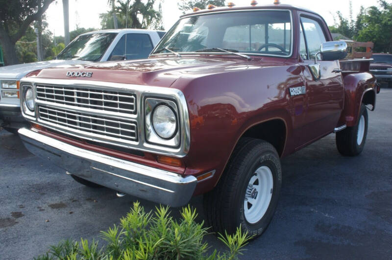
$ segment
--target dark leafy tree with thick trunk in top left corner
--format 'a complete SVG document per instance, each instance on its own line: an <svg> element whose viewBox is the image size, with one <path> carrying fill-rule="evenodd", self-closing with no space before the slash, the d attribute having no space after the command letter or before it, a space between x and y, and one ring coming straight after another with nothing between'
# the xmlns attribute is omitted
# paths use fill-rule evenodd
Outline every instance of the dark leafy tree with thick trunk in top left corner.
<svg viewBox="0 0 392 260"><path fill-rule="evenodd" d="M15 43L54 0L0 0L0 43L7 64L17 64Z"/></svg>

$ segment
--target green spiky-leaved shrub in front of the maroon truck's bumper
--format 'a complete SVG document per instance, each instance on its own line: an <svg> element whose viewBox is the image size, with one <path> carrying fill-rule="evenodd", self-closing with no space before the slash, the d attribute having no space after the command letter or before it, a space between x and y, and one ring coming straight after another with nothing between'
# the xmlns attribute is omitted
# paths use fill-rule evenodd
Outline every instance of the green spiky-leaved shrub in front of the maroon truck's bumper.
<svg viewBox="0 0 392 260"><path fill-rule="evenodd" d="M155 213L145 212L139 202L133 203L130 212L107 231L101 231L106 245L65 240L35 260L234 260L242 254L250 237L241 228L233 235L219 234L218 238L228 251L217 250L207 255L208 244L203 237L208 229L196 223L196 210L190 206L181 210L181 219L170 217L169 207L157 207Z"/></svg>

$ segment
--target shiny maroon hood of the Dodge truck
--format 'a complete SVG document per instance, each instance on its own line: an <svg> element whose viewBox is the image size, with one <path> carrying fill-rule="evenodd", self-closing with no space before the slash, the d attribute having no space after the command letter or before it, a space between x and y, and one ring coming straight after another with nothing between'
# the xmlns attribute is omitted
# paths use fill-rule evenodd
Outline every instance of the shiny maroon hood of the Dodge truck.
<svg viewBox="0 0 392 260"><path fill-rule="evenodd" d="M223 57L223 56L221 56ZM182 57L160 58L138 61L105 62L91 65L67 65L43 69L32 73L30 77L51 79L78 79L89 81L125 83L154 87L171 87L179 78L192 80L211 74L228 73L265 66L282 65L283 62L261 61L254 59L246 61L236 56L224 58L211 57ZM282 59L281 59L282 60ZM92 72L91 77L67 76L68 72ZM80 73L79 73L80 74Z"/></svg>

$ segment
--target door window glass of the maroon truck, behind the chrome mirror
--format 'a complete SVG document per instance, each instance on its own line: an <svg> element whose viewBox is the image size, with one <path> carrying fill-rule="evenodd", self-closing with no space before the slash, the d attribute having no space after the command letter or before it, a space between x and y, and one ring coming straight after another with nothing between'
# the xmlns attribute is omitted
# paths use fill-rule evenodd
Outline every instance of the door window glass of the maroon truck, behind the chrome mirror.
<svg viewBox="0 0 392 260"><path fill-rule="evenodd" d="M325 43L326 39L319 22L305 17L301 18L301 22L306 42L308 43L309 59L313 60L316 53L320 51L321 44Z"/></svg>

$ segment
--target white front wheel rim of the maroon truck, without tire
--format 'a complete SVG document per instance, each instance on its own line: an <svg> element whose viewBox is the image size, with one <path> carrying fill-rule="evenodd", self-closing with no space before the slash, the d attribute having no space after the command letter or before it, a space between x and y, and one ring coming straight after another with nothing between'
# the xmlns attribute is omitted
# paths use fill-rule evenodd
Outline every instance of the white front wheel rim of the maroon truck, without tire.
<svg viewBox="0 0 392 260"><path fill-rule="evenodd" d="M270 206L273 189L273 177L269 167L261 166L250 177L245 192L244 214L251 224L260 221Z"/></svg>

